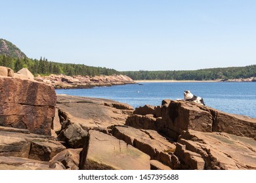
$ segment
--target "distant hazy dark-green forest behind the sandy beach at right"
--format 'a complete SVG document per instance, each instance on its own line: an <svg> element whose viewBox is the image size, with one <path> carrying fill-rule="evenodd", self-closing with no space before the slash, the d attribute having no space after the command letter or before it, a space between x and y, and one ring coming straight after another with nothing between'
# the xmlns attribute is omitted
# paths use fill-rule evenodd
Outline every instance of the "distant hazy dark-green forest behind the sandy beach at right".
<svg viewBox="0 0 256 183"><path fill-rule="evenodd" d="M124 71L133 80L227 80L256 76L256 65L199 69L196 71Z"/></svg>

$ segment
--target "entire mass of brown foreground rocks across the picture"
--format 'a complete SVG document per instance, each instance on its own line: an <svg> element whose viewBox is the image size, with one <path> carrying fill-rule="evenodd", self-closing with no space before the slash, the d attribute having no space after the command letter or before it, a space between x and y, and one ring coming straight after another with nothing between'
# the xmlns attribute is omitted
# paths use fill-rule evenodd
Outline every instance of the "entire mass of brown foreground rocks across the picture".
<svg viewBox="0 0 256 183"><path fill-rule="evenodd" d="M255 118L168 99L134 109L0 75L0 169L256 169Z"/></svg>

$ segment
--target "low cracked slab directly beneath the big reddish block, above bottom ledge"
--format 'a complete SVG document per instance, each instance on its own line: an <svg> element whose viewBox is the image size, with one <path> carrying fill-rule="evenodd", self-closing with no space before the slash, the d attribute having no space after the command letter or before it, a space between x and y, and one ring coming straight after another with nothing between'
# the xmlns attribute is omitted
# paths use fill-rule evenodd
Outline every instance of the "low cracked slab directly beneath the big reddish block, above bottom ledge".
<svg viewBox="0 0 256 183"><path fill-rule="evenodd" d="M26 134L0 131L0 156L49 161L66 147L53 137L37 134Z"/></svg>

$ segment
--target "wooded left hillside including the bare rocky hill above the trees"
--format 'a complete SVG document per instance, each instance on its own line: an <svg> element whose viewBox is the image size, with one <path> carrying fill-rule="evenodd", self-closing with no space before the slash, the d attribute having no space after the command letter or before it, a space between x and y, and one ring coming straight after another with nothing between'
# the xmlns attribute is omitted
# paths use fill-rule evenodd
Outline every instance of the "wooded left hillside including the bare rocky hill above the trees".
<svg viewBox="0 0 256 183"><path fill-rule="evenodd" d="M114 69L107 69L105 67L90 67L83 64L72 63L57 63L48 61L45 58L30 59L20 51L11 42L0 39L0 65L9 67L14 72L20 71L23 67L28 68L33 75L50 75L50 74L64 74L68 76L73 75L114 75L119 74Z"/></svg>

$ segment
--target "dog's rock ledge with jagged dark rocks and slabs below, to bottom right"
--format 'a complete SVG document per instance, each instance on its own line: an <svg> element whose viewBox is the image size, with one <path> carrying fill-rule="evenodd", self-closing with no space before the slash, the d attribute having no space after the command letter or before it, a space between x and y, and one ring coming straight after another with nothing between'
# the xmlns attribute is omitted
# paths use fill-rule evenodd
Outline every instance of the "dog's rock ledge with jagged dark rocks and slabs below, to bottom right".
<svg viewBox="0 0 256 183"><path fill-rule="evenodd" d="M154 129L175 141L172 169L256 169L255 118L171 100L133 113L125 125Z"/></svg>

